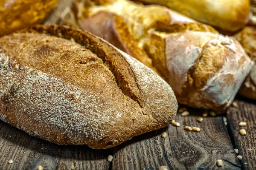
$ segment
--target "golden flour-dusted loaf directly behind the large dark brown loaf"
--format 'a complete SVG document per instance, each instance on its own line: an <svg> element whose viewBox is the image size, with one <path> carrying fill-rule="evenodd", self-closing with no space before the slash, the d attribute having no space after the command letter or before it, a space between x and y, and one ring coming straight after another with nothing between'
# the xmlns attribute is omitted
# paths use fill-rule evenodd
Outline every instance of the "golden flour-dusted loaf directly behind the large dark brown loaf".
<svg viewBox="0 0 256 170"><path fill-rule="evenodd" d="M127 0L79 0L74 6L71 15L81 28L157 70L181 104L223 111L253 66L234 38L166 7Z"/></svg>

